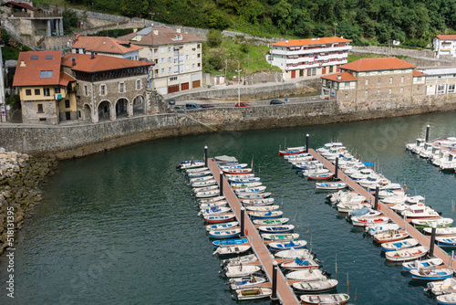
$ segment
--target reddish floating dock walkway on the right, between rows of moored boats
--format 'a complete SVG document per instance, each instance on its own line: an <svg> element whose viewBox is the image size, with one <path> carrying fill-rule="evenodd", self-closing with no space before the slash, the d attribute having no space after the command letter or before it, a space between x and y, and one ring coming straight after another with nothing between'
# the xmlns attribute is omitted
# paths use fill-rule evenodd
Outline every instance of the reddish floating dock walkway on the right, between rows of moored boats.
<svg viewBox="0 0 456 305"><path fill-rule="evenodd" d="M316 153L316 151L313 149L309 149L309 153L311 153L316 158L316 160L323 163L328 170L335 173L336 168L333 163L330 163L328 160L326 160L325 157L323 157L319 153ZM371 195L364 187L357 184L342 171L337 171L337 176L342 182L345 182L352 190L357 192L359 195L363 195L366 198L368 198L368 202L370 202L370 204L374 206L374 195ZM385 216L388 216L394 223L398 224L404 231L407 231L410 237L417 239L422 246L430 247L430 236L423 235L418 229L410 225L404 218L400 217L398 214L396 214L396 212L391 210L388 205L384 205L378 201L378 210L383 212ZM447 265L448 267L452 268L453 270L456 270L456 260L451 258L451 255L448 255L440 247L434 246L434 256L443 260L445 265Z"/></svg>

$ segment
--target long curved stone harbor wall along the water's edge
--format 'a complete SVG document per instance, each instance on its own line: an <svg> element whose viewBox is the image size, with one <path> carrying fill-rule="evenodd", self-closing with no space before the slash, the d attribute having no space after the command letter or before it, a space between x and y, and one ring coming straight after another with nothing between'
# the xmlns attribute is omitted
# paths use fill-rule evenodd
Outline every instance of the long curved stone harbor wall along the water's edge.
<svg viewBox="0 0 456 305"><path fill-rule="evenodd" d="M387 106L340 110L337 100L307 100L293 104L249 108L189 110L98 124L68 126L0 125L0 146L19 153L51 154L58 159L100 153L135 142L215 131L261 130L361 121L431 111L456 110L456 99L425 97L397 100Z"/></svg>

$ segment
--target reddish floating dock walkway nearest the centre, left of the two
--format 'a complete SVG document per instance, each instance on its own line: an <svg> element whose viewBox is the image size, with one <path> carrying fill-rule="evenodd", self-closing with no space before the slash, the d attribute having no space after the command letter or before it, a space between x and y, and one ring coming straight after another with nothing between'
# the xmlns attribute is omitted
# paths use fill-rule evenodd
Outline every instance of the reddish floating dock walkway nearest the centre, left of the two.
<svg viewBox="0 0 456 305"><path fill-rule="evenodd" d="M207 161L208 167L211 169L213 176L217 180L220 185L220 169L217 164L213 161L212 158L208 158ZM224 179L223 177L223 195L226 197L228 204L233 209L233 213L236 215L239 222L241 222L241 203L239 202L236 195L234 195L233 189L230 187L230 184ZM264 245L262 238L260 237L258 231L255 229L252 220L250 217L245 214L244 217L244 230L245 235L250 241L252 245L252 249L254 253L258 257L258 260L261 262L263 266L264 272L272 283L273 279L273 262L274 257L269 252L268 248ZM292 288L288 286L286 282L285 276L278 268L277 270L277 296L281 300L282 304L299 304L299 300L297 300L295 293L293 292Z"/></svg>

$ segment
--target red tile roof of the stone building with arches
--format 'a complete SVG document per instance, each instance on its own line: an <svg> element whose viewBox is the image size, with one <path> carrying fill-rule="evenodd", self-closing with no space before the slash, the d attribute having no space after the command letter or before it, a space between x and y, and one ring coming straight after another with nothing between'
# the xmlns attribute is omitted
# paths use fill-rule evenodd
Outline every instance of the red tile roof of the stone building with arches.
<svg viewBox="0 0 456 305"><path fill-rule="evenodd" d="M71 58L76 58L75 66L73 66ZM151 62L114 58L106 55L94 55L92 59L90 54L68 53L62 58L62 66L84 72L101 72L119 68L149 67L152 65L153 63Z"/></svg>

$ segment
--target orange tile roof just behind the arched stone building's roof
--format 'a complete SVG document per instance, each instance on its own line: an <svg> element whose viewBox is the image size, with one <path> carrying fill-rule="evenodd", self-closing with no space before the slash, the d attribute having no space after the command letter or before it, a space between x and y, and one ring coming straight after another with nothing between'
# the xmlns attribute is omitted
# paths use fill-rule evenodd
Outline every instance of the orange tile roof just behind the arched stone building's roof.
<svg viewBox="0 0 456 305"><path fill-rule="evenodd" d="M127 43L130 45L130 43ZM73 48L85 48L88 52L96 51L103 53L116 53L125 54L132 51L138 51L142 47L130 45L125 47L120 44L119 40L111 37L85 37L78 36L76 42L72 46Z"/></svg>

